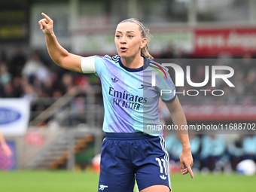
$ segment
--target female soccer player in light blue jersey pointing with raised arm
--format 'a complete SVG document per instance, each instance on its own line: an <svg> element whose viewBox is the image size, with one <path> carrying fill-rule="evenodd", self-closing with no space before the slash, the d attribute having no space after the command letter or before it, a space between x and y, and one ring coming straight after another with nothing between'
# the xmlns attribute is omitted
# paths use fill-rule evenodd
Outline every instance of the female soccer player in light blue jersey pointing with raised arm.
<svg viewBox="0 0 256 192"><path fill-rule="evenodd" d="M160 125L159 97L166 102L175 125L185 125L186 119L167 69L151 60L148 53L148 29L138 20L123 20L115 32L117 56L81 57L59 45L53 20L42 15L39 24L51 59L65 69L95 73L102 83L106 138L102 143L99 191L132 192L135 178L142 192L169 191L169 155L163 130L156 129ZM169 94L161 94L161 90L169 90ZM179 134L179 138L181 171L194 178L188 135Z"/></svg>

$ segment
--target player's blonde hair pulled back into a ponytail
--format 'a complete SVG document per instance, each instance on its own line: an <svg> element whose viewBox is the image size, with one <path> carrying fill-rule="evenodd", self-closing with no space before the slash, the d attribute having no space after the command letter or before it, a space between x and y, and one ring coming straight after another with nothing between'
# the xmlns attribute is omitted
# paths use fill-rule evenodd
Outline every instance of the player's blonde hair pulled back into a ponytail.
<svg viewBox="0 0 256 192"><path fill-rule="evenodd" d="M127 19L127 20L123 20L120 23L125 23L125 22L133 22L133 23L138 24L139 29L140 29L141 34L142 34L142 38L147 38L147 40L148 40L145 47L142 48L141 54L142 54L142 56L148 57L149 59L154 59L154 57L151 56L151 54L148 51L148 42L151 40L151 34L149 32L149 29L147 27L145 27L141 22L139 22L139 20L137 20L135 18L130 18L130 19Z"/></svg>

